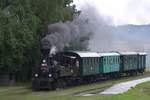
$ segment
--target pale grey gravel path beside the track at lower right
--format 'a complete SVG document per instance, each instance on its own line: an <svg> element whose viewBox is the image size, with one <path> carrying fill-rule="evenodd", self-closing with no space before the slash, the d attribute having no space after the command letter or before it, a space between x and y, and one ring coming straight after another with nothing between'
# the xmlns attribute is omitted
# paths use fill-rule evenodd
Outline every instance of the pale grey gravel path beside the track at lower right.
<svg viewBox="0 0 150 100"><path fill-rule="evenodd" d="M104 90L100 94L121 94L121 93L128 91L132 87L135 87L137 84L147 82L147 81L150 81L150 77L118 83L118 84L113 85L112 87Z"/></svg>

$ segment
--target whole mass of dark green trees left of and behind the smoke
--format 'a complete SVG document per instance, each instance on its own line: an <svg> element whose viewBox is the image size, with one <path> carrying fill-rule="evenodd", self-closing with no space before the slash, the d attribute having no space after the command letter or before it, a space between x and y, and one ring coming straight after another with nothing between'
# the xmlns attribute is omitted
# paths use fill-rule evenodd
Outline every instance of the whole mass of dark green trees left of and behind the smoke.
<svg viewBox="0 0 150 100"><path fill-rule="evenodd" d="M73 0L0 0L0 74L31 78L41 58L40 40L48 24L73 20Z"/></svg>

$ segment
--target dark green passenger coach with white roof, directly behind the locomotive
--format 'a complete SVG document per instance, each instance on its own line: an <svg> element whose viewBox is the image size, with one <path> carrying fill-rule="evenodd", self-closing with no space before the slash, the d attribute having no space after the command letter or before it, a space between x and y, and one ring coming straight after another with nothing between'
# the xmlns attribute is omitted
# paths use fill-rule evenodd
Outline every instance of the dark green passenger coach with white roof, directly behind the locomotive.
<svg viewBox="0 0 150 100"><path fill-rule="evenodd" d="M96 52L75 52L80 57L80 74L82 76L99 74L99 55Z"/></svg>

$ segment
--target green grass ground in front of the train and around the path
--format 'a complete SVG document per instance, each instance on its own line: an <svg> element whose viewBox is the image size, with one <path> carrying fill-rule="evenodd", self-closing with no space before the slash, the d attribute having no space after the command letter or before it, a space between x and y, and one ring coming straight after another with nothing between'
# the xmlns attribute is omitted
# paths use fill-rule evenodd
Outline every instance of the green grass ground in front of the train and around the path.
<svg viewBox="0 0 150 100"><path fill-rule="evenodd" d="M0 86L0 100L150 100L150 82L146 82L136 86L128 92L121 95L97 95L90 97L71 96L71 94L79 93L96 88L104 89L115 83L138 79L150 76L145 74L142 76L134 76L129 78L103 81L99 83L82 85L66 88L59 91L39 91L33 92L30 85L16 86Z"/></svg>

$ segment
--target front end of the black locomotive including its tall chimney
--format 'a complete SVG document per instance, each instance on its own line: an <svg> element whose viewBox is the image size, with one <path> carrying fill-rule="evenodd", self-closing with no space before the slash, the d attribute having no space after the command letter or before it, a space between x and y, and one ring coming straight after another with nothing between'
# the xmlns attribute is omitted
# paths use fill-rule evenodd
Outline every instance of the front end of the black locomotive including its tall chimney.
<svg viewBox="0 0 150 100"><path fill-rule="evenodd" d="M53 89L54 86L54 65L52 64L52 57L50 54L50 43L47 39L41 41L42 61L37 66L32 74L32 88L39 89Z"/></svg>

